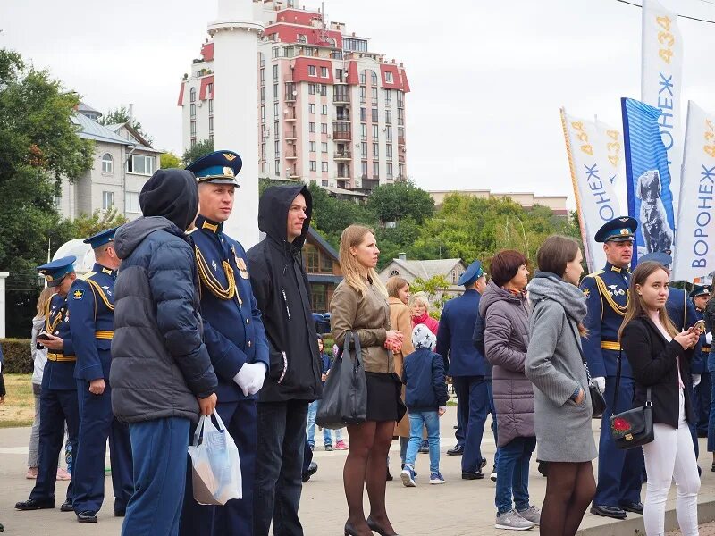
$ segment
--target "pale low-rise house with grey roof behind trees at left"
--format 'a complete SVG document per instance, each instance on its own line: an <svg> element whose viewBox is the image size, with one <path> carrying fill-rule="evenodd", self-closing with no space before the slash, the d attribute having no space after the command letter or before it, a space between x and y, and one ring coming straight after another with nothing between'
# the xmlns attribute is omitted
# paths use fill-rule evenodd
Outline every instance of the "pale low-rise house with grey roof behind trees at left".
<svg viewBox="0 0 715 536"><path fill-rule="evenodd" d="M101 125L101 113L81 103L71 117L80 138L95 142L92 169L79 179L63 179L55 206L65 218L115 207L130 220L141 215L139 192L160 167L162 152L129 123Z"/></svg>

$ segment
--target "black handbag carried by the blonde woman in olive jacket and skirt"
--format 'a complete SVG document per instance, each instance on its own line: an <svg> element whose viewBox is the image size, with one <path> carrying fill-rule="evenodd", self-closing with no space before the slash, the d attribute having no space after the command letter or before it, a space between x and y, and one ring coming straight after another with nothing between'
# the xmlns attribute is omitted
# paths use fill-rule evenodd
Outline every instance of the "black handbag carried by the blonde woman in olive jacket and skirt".
<svg viewBox="0 0 715 536"><path fill-rule="evenodd" d="M352 348L350 348L352 346ZM360 339L347 331L345 342L323 387L315 423L337 430L347 424L363 423L367 416L367 385Z"/></svg>

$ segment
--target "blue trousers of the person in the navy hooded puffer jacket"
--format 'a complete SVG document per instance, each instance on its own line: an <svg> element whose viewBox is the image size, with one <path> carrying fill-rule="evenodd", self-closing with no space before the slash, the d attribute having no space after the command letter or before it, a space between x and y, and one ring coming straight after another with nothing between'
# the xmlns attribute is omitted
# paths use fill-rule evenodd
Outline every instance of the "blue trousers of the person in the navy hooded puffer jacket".
<svg viewBox="0 0 715 536"><path fill-rule="evenodd" d="M130 423L134 493L122 536L176 536L186 484L189 419Z"/></svg>

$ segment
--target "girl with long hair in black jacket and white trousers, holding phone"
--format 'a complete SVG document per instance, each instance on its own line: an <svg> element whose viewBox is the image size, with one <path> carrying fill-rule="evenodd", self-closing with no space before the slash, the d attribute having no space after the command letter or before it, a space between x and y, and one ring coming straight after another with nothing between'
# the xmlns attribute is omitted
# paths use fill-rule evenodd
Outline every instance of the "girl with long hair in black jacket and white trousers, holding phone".
<svg viewBox="0 0 715 536"><path fill-rule="evenodd" d="M677 331L665 308L669 273L653 261L638 264L618 338L635 378L634 407L650 395L654 440L643 446L648 484L644 504L645 532L664 533L665 502L676 482L676 515L684 536L698 533L698 477L693 440L693 379L690 359L700 332L695 326ZM649 392L650 391L650 392Z"/></svg>

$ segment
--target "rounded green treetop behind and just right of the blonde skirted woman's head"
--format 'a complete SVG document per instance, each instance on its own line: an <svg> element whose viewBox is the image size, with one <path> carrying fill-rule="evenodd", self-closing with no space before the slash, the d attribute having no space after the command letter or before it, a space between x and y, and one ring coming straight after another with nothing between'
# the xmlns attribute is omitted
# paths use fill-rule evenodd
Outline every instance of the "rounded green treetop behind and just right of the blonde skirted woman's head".
<svg viewBox="0 0 715 536"><path fill-rule="evenodd" d="M367 208L383 223L398 222L408 216L423 223L434 213L434 200L413 182L395 182L374 188L367 198Z"/></svg>

